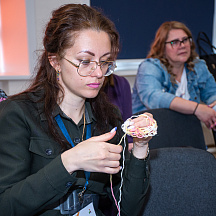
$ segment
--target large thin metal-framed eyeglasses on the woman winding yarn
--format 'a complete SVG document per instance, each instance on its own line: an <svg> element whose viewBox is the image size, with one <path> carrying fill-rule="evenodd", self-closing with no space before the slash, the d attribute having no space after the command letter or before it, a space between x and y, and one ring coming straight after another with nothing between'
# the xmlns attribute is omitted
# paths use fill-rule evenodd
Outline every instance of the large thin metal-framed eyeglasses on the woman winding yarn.
<svg viewBox="0 0 216 216"><path fill-rule="evenodd" d="M117 68L115 61L101 61L98 63L97 61L83 60L79 63L79 65L76 65L64 57L63 59L76 67L77 73L83 77L90 76L97 69L97 66L100 66L103 76L111 75L115 68Z"/></svg>

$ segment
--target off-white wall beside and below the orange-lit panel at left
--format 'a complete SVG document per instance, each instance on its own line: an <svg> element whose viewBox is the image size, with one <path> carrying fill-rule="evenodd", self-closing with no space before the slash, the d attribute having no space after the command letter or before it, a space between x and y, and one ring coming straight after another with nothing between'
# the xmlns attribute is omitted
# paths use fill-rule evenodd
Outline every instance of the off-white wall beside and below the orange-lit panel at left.
<svg viewBox="0 0 216 216"><path fill-rule="evenodd" d="M28 32L28 53L30 72L33 74L38 55L36 50L42 49L42 38L46 23L51 12L60 5L79 3L90 5L90 0L25 0ZM16 39L16 36L14 36ZM20 51L21 52L21 51ZM19 55L19 52L17 52ZM30 76L1 76L0 88L8 95L16 94L28 87L31 82Z"/></svg>

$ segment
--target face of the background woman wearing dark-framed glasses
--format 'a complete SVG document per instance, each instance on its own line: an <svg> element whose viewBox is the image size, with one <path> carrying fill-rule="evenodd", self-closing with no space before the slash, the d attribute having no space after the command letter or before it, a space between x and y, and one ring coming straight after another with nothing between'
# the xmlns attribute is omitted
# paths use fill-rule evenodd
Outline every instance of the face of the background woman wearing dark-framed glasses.
<svg viewBox="0 0 216 216"><path fill-rule="evenodd" d="M183 41L178 45L176 41ZM188 35L182 29L172 29L168 34L165 45L165 56L173 66L184 64L191 55L191 42Z"/></svg>

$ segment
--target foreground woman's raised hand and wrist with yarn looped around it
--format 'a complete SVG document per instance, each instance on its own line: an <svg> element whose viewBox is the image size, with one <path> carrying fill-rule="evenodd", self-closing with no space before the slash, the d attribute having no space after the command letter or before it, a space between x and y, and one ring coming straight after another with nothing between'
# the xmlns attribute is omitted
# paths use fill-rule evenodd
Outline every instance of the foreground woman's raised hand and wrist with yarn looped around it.
<svg viewBox="0 0 216 216"><path fill-rule="evenodd" d="M152 114L150 113L144 113L148 115L150 118L153 118ZM145 118L144 116L139 116L135 119L133 119L131 122L133 122L134 128L139 127L143 128L150 125L150 120L148 118ZM152 137L149 136L147 138L133 138L133 155L136 158L144 159L147 156L148 151L148 142Z"/></svg>

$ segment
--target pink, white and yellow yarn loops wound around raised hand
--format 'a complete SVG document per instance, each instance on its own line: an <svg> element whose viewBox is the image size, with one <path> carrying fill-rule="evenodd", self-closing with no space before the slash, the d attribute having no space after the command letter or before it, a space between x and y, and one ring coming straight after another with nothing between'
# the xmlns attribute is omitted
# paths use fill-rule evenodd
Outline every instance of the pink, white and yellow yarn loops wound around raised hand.
<svg viewBox="0 0 216 216"><path fill-rule="evenodd" d="M149 125L143 128L131 127L132 119L137 118L138 116L143 116L144 118L146 118L149 121ZM132 137L138 137L138 138L146 138L149 136L155 136L157 134L157 127L158 127L157 122L146 114L131 116L121 126L122 130L127 135L132 136Z"/></svg>

